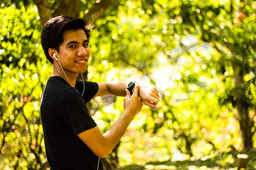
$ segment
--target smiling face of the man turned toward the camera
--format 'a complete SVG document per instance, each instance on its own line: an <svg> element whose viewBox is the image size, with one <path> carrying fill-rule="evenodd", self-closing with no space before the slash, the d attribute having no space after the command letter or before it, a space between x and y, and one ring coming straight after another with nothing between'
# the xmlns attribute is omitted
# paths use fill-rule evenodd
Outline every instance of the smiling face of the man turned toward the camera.
<svg viewBox="0 0 256 170"><path fill-rule="evenodd" d="M65 72L71 74L85 72L89 57L89 40L84 30L64 31L57 58Z"/></svg>

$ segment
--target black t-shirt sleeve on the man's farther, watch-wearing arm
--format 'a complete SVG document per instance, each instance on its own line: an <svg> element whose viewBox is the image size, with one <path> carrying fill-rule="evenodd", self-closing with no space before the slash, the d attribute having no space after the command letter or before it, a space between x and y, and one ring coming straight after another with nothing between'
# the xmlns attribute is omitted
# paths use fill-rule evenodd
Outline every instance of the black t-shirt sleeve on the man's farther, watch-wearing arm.
<svg viewBox="0 0 256 170"><path fill-rule="evenodd" d="M84 91L83 97L84 97L85 103L89 102L97 94L99 90L99 85L96 82L84 81L84 84L83 84L82 80L78 80L77 84L78 84L77 87L81 92L81 94Z"/></svg>

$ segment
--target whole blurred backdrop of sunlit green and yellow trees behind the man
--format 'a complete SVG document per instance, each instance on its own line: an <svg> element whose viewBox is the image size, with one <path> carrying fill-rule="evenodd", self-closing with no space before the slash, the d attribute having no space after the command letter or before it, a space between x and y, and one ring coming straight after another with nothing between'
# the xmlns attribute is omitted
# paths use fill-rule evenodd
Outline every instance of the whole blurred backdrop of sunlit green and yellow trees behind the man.
<svg viewBox="0 0 256 170"><path fill-rule="evenodd" d="M40 98L52 65L40 37L58 15L95 24L88 81L136 80L160 92L159 110L144 106L102 159L106 170L234 169L238 153L256 169L256 1L1 0L1 170L49 169ZM123 97L88 108L104 133Z"/></svg>

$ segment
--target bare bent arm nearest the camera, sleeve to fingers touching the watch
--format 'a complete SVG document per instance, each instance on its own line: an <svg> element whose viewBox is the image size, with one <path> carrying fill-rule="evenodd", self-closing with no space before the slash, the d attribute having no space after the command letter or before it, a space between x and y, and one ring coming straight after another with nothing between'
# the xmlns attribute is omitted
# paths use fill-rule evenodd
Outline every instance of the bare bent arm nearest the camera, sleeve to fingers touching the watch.
<svg viewBox="0 0 256 170"><path fill-rule="evenodd" d="M143 102L138 96L138 83L135 85L134 94L131 98L130 92L127 89L125 91L125 111L106 133L102 134L99 127L96 126L78 134L79 138L100 158L104 158L111 152L122 138L128 125L134 119L134 116L136 116L143 107Z"/></svg>

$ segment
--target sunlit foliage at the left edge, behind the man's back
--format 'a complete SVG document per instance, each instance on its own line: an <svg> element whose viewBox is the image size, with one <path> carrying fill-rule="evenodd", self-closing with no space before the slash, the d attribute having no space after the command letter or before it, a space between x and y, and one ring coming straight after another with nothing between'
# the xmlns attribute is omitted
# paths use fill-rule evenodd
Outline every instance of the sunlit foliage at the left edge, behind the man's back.
<svg viewBox="0 0 256 170"><path fill-rule="evenodd" d="M39 169L47 161L39 102L50 68L37 12L0 9L0 161L14 169Z"/></svg>

